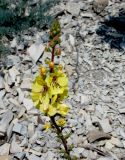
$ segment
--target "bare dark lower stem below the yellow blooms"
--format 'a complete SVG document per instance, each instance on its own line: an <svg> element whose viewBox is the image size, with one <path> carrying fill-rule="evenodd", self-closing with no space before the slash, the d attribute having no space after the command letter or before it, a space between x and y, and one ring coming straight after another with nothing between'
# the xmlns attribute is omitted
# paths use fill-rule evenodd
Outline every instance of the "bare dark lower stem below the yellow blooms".
<svg viewBox="0 0 125 160"><path fill-rule="evenodd" d="M64 146L64 149L65 149L65 152L68 156L68 160L71 160L71 157L70 157L70 152L68 150L68 146L67 146L67 141L66 139L64 138L63 134L62 134L62 130L59 128L59 126L56 124L55 122L55 118L54 117L51 117L51 122L53 124L53 126L56 128L57 130L57 135L59 135L61 141L62 141L62 144Z"/></svg>

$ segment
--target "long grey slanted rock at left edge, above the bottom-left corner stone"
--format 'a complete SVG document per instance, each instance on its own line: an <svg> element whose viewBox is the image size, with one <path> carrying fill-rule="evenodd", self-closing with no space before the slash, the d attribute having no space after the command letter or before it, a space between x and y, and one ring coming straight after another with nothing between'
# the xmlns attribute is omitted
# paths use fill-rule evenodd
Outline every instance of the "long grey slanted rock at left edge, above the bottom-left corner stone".
<svg viewBox="0 0 125 160"><path fill-rule="evenodd" d="M11 122L12 119L13 119L13 113L10 110L8 110L2 115L2 119L0 121L0 135L1 136L5 135L7 128L9 126L9 123Z"/></svg>

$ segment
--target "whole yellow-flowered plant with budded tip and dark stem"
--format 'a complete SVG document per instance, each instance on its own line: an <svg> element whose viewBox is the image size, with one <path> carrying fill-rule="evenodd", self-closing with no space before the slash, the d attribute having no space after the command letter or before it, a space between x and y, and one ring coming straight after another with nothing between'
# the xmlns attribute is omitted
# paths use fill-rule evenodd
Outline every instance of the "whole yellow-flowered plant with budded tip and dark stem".
<svg viewBox="0 0 125 160"><path fill-rule="evenodd" d="M66 125L65 117L69 111L69 107L63 103L63 100L68 96L68 78L62 65L55 65L54 63L54 57L61 55L61 49L57 47L61 43L60 36L61 28L56 20L50 29L50 41L45 48L45 51L51 53L51 60L47 61L48 67L40 66L39 75L32 85L31 97L36 108L50 117L50 122L44 125L45 129L56 129L56 133L64 146L65 157L71 160L66 136L62 133Z"/></svg>

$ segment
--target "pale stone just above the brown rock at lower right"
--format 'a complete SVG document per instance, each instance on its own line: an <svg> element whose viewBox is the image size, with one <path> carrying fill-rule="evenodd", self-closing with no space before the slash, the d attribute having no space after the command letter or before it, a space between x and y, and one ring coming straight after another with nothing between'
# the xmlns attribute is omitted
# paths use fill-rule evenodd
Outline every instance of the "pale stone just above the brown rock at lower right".
<svg viewBox="0 0 125 160"><path fill-rule="evenodd" d="M101 128L105 133L110 133L112 132L112 127L109 124L109 120L108 119L103 119L100 122Z"/></svg>

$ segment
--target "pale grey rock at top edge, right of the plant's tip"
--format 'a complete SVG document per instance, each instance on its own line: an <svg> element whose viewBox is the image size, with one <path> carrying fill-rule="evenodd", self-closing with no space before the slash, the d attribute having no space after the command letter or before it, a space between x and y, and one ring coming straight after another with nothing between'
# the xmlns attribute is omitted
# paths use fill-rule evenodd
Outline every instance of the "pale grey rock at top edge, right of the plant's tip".
<svg viewBox="0 0 125 160"><path fill-rule="evenodd" d="M66 4L66 10L71 13L73 16L78 16L80 13L80 4L79 3L73 3L73 2L68 2Z"/></svg>

